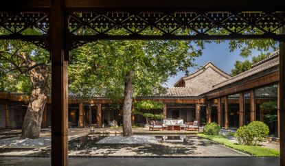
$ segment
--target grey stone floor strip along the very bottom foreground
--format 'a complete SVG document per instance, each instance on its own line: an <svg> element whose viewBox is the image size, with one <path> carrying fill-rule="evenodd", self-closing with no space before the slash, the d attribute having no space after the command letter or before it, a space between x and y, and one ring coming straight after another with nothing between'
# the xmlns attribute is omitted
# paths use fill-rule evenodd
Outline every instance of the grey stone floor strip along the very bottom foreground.
<svg viewBox="0 0 285 166"><path fill-rule="evenodd" d="M84 166L277 166L278 157L234 158L69 158L69 165ZM51 165L50 158L0 158L0 165Z"/></svg>

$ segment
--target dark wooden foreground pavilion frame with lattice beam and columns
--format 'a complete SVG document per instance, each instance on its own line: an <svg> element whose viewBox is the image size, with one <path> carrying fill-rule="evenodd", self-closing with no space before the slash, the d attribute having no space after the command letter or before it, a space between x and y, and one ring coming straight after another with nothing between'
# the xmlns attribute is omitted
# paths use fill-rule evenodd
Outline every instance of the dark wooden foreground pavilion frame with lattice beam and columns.
<svg viewBox="0 0 285 166"><path fill-rule="evenodd" d="M279 40L280 165L285 166L284 12L284 4L276 0L10 0L0 7L0 28L5 32L0 40L24 40L50 51L52 165L68 165L67 65L71 49L95 40ZM26 34L26 29L41 33ZM78 29L91 33L83 35ZM114 35L113 29L124 33ZM158 34L152 34L152 29ZM216 29L226 34L220 35Z"/></svg>

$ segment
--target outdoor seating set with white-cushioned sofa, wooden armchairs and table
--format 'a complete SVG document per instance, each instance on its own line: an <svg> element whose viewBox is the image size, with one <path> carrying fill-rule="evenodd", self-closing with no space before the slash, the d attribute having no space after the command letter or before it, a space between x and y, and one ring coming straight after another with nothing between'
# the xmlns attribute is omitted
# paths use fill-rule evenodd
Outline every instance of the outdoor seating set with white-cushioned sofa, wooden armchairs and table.
<svg viewBox="0 0 285 166"><path fill-rule="evenodd" d="M183 119L163 119L163 121L150 121L149 130L197 130L198 121L185 122Z"/></svg>

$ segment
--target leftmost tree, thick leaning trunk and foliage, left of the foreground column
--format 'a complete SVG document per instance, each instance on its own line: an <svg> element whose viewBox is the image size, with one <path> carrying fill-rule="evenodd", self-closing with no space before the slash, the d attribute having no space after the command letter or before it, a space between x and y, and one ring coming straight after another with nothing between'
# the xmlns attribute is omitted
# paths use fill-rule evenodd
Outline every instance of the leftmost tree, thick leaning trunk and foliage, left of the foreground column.
<svg viewBox="0 0 285 166"><path fill-rule="evenodd" d="M20 41L1 40L1 91L30 94L21 138L40 137L43 110L49 94L51 67L49 54L43 49Z"/></svg>

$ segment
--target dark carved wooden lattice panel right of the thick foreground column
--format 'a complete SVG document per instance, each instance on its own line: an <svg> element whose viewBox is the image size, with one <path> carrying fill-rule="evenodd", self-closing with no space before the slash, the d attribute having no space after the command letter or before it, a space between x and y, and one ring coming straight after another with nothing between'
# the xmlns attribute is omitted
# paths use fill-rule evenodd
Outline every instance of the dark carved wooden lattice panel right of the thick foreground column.
<svg viewBox="0 0 285 166"><path fill-rule="evenodd" d="M80 35L82 29L94 37L106 35L144 35L149 29L161 35L209 36L223 34L264 35L277 34L284 25L282 14L266 12L72 12L69 29ZM116 34L122 30L123 34Z"/></svg>

